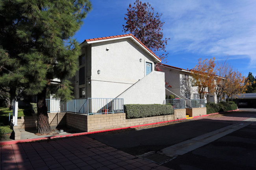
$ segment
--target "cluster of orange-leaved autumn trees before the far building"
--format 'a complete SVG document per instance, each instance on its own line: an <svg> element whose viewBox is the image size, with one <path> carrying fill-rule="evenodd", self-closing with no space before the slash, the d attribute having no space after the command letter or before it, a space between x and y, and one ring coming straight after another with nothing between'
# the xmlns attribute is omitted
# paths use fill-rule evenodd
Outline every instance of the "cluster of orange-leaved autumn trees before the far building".
<svg viewBox="0 0 256 170"><path fill-rule="evenodd" d="M245 82L245 77L237 70L234 70L226 61L217 62L215 58L202 61L200 58L198 64L191 70L193 77L193 86L198 87L200 99L204 98L204 93L215 92L217 102L223 97L223 94L228 96L228 99L234 95L245 93L248 83Z"/></svg>

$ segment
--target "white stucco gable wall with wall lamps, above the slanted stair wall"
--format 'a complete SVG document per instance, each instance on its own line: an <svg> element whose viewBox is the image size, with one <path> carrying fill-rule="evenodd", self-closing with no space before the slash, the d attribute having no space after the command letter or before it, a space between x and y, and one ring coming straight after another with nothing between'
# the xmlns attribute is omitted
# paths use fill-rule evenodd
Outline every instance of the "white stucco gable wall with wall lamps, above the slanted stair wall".
<svg viewBox="0 0 256 170"><path fill-rule="evenodd" d="M146 62L154 70L153 58L128 38L91 44L91 97L117 97L145 77Z"/></svg>

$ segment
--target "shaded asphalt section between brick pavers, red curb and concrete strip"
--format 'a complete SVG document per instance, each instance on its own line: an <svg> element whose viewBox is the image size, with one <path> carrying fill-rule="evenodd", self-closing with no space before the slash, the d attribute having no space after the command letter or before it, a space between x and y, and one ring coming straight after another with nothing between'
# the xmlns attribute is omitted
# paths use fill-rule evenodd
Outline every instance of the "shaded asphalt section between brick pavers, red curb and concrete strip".
<svg viewBox="0 0 256 170"><path fill-rule="evenodd" d="M226 121L215 122L210 119L200 119L157 128L131 129L120 133L95 133L87 136L128 154L141 155L161 150L230 124L232 123Z"/></svg>

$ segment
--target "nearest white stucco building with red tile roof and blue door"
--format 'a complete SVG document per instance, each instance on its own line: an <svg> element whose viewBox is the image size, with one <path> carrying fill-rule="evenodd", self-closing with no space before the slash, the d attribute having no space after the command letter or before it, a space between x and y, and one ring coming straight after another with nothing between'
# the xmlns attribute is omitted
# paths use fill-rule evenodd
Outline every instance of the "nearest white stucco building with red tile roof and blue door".
<svg viewBox="0 0 256 170"><path fill-rule="evenodd" d="M161 62L132 34L87 39L79 71L72 78L74 97L124 98L124 104L163 104L165 76Z"/></svg>

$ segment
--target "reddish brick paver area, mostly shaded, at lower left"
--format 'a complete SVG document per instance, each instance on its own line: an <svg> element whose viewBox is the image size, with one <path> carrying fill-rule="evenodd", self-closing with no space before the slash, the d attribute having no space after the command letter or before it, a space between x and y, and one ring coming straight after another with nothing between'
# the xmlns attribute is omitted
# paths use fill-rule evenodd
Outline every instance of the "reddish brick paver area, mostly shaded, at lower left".
<svg viewBox="0 0 256 170"><path fill-rule="evenodd" d="M0 148L0 170L169 170L87 136Z"/></svg>

